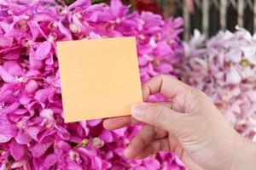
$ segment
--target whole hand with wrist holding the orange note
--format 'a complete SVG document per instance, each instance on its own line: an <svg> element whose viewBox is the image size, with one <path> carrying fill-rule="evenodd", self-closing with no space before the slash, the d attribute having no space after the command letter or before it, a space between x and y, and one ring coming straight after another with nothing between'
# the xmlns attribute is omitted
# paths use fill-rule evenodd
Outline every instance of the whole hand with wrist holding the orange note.
<svg viewBox="0 0 256 170"><path fill-rule="evenodd" d="M125 149L126 157L143 159L164 150L176 152L191 170L256 169L255 144L230 127L206 94L166 75L142 88L144 101L160 93L170 102L136 104L131 116L103 122L108 129L144 122Z"/></svg>

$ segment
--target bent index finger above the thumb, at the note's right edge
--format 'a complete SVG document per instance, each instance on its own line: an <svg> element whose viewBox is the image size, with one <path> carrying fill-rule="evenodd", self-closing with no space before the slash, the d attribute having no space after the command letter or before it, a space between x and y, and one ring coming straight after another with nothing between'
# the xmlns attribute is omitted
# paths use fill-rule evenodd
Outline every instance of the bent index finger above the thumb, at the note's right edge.
<svg viewBox="0 0 256 170"><path fill-rule="evenodd" d="M160 93L168 99L174 98L178 93L189 89L189 86L176 78L167 75L158 75L143 83L143 100L150 95Z"/></svg>

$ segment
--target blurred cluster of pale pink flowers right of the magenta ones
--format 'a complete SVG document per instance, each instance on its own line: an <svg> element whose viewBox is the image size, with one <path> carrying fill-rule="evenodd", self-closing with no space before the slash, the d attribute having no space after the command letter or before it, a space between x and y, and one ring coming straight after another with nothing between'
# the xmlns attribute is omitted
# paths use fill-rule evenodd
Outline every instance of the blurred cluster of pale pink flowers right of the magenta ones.
<svg viewBox="0 0 256 170"><path fill-rule="evenodd" d="M208 94L236 130L256 141L256 34L237 28L184 43L181 77Z"/></svg>

